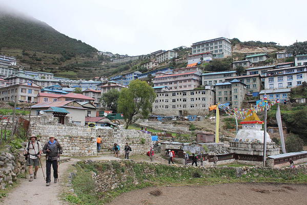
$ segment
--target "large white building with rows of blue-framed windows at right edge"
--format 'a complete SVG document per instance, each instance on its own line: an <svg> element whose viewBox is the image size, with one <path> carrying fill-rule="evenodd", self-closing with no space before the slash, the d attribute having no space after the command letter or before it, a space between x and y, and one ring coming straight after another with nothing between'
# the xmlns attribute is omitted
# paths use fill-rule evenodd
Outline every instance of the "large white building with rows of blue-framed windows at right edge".
<svg viewBox="0 0 307 205"><path fill-rule="evenodd" d="M265 71L264 89L291 88L307 81L307 65Z"/></svg>

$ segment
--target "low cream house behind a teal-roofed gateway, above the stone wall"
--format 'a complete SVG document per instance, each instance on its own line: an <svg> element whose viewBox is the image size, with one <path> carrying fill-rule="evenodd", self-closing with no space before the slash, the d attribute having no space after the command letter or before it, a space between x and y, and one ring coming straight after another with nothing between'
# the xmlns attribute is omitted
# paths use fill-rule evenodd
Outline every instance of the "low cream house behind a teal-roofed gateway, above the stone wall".
<svg viewBox="0 0 307 205"><path fill-rule="evenodd" d="M41 110L44 111L43 115L46 113L46 115L53 115L54 117L58 117L59 123L64 124L64 117L67 116L72 118L72 123L84 126L88 109L84 108L74 100L43 102L31 106L31 115L42 115L42 112L40 112Z"/></svg>

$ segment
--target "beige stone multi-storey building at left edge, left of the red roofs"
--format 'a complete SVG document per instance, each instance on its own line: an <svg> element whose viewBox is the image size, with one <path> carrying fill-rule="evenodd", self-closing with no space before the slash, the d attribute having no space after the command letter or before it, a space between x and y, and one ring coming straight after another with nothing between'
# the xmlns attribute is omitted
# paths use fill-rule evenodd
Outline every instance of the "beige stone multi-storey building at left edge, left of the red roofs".
<svg viewBox="0 0 307 205"><path fill-rule="evenodd" d="M36 103L39 85L32 82L24 82L0 88L0 101L16 101L19 103Z"/></svg>

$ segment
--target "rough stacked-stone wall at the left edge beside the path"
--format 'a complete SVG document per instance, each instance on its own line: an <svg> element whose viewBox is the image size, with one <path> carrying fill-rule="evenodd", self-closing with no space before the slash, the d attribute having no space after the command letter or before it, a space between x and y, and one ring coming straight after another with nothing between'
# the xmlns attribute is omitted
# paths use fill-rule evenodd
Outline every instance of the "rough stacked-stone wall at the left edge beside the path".
<svg viewBox="0 0 307 205"><path fill-rule="evenodd" d="M25 172L24 148L11 152L7 147L0 152L0 189L6 189L8 185L17 180L17 175Z"/></svg>

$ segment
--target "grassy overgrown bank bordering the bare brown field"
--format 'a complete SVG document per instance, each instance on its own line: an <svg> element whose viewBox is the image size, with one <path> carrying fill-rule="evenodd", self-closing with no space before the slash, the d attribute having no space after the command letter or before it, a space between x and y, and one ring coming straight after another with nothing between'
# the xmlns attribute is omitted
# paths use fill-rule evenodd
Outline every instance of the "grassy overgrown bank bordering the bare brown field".
<svg viewBox="0 0 307 205"><path fill-rule="evenodd" d="M122 193L151 186L162 185L212 185L234 182L280 182L280 183L306 183L307 175L303 169L261 169L250 167L250 171L241 177L236 176L235 167L246 166L231 164L231 167L218 169L195 169L194 167L176 167L164 164L135 163L133 161L121 162L77 162L76 176L72 179L76 195L66 196L66 200L77 204L105 204ZM124 169L122 169L124 167ZM119 184L120 188L106 193L95 192L95 182L92 173L100 174L113 168L117 178L128 175L126 181ZM148 174L148 170L152 174ZM138 184L133 183L134 177ZM98 175L99 177L99 175Z"/></svg>

